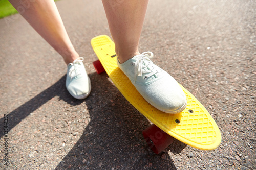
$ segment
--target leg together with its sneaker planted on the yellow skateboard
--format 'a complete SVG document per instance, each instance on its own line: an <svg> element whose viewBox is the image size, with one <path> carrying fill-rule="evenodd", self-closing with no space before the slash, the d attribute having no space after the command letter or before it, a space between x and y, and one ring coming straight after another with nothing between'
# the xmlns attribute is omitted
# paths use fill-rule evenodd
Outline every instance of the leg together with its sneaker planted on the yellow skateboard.
<svg viewBox="0 0 256 170"><path fill-rule="evenodd" d="M138 45L148 0L102 2L120 62L118 67L152 106L172 114L184 110L186 96L175 79L150 60L152 52L139 55Z"/></svg>

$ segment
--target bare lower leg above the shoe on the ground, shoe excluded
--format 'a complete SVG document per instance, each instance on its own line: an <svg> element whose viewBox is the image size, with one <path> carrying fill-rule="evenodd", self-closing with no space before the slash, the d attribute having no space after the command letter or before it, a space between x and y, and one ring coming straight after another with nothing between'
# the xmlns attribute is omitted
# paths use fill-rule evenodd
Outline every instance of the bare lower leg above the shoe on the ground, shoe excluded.
<svg viewBox="0 0 256 170"><path fill-rule="evenodd" d="M63 57L66 64L79 57L53 0L9 0L30 25ZM24 8L19 8L24 7Z"/></svg>

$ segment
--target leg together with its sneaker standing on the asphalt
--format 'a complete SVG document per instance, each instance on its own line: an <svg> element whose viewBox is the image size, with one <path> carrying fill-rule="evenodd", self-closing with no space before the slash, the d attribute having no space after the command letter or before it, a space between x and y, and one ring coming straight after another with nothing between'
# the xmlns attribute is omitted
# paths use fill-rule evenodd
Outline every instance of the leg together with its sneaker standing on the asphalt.
<svg viewBox="0 0 256 170"><path fill-rule="evenodd" d="M63 57L68 65L66 87L76 99L91 92L91 81L75 51L53 0L9 0L30 25ZM23 8L21 8L23 7ZM70 63L70 64L69 64Z"/></svg>

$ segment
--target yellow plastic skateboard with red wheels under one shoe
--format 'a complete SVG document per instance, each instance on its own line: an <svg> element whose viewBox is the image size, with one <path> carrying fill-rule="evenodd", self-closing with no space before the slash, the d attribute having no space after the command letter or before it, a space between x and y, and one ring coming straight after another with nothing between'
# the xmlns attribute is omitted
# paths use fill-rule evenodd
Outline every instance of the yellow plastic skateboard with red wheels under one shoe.
<svg viewBox="0 0 256 170"><path fill-rule="evenodd" d="M221 133L215 120L183 86L180 85L186 94L186 109L178 114L164 113L147 103L118 68L115 44L109 36L94 37L91 44L99 58L94 62L98 74L106 71L123 96L153 123L143 131L143 136L155 153L168 147L173 142L172 136L201 150L213 150L220 145Z"/></svg>

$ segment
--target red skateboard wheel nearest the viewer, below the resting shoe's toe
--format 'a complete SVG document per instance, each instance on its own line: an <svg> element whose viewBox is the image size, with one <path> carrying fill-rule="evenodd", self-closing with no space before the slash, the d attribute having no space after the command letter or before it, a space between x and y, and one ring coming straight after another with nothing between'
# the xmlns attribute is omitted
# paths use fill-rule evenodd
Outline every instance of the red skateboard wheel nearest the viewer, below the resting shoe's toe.
<svg viewBox="0 0 256 170"><path fill-rule="evenodd" d="M152 124L143 130L143 136L148 144L156 154L161 153L165 148L173 143L173 137L168 135L166 132Z"/></svg>

